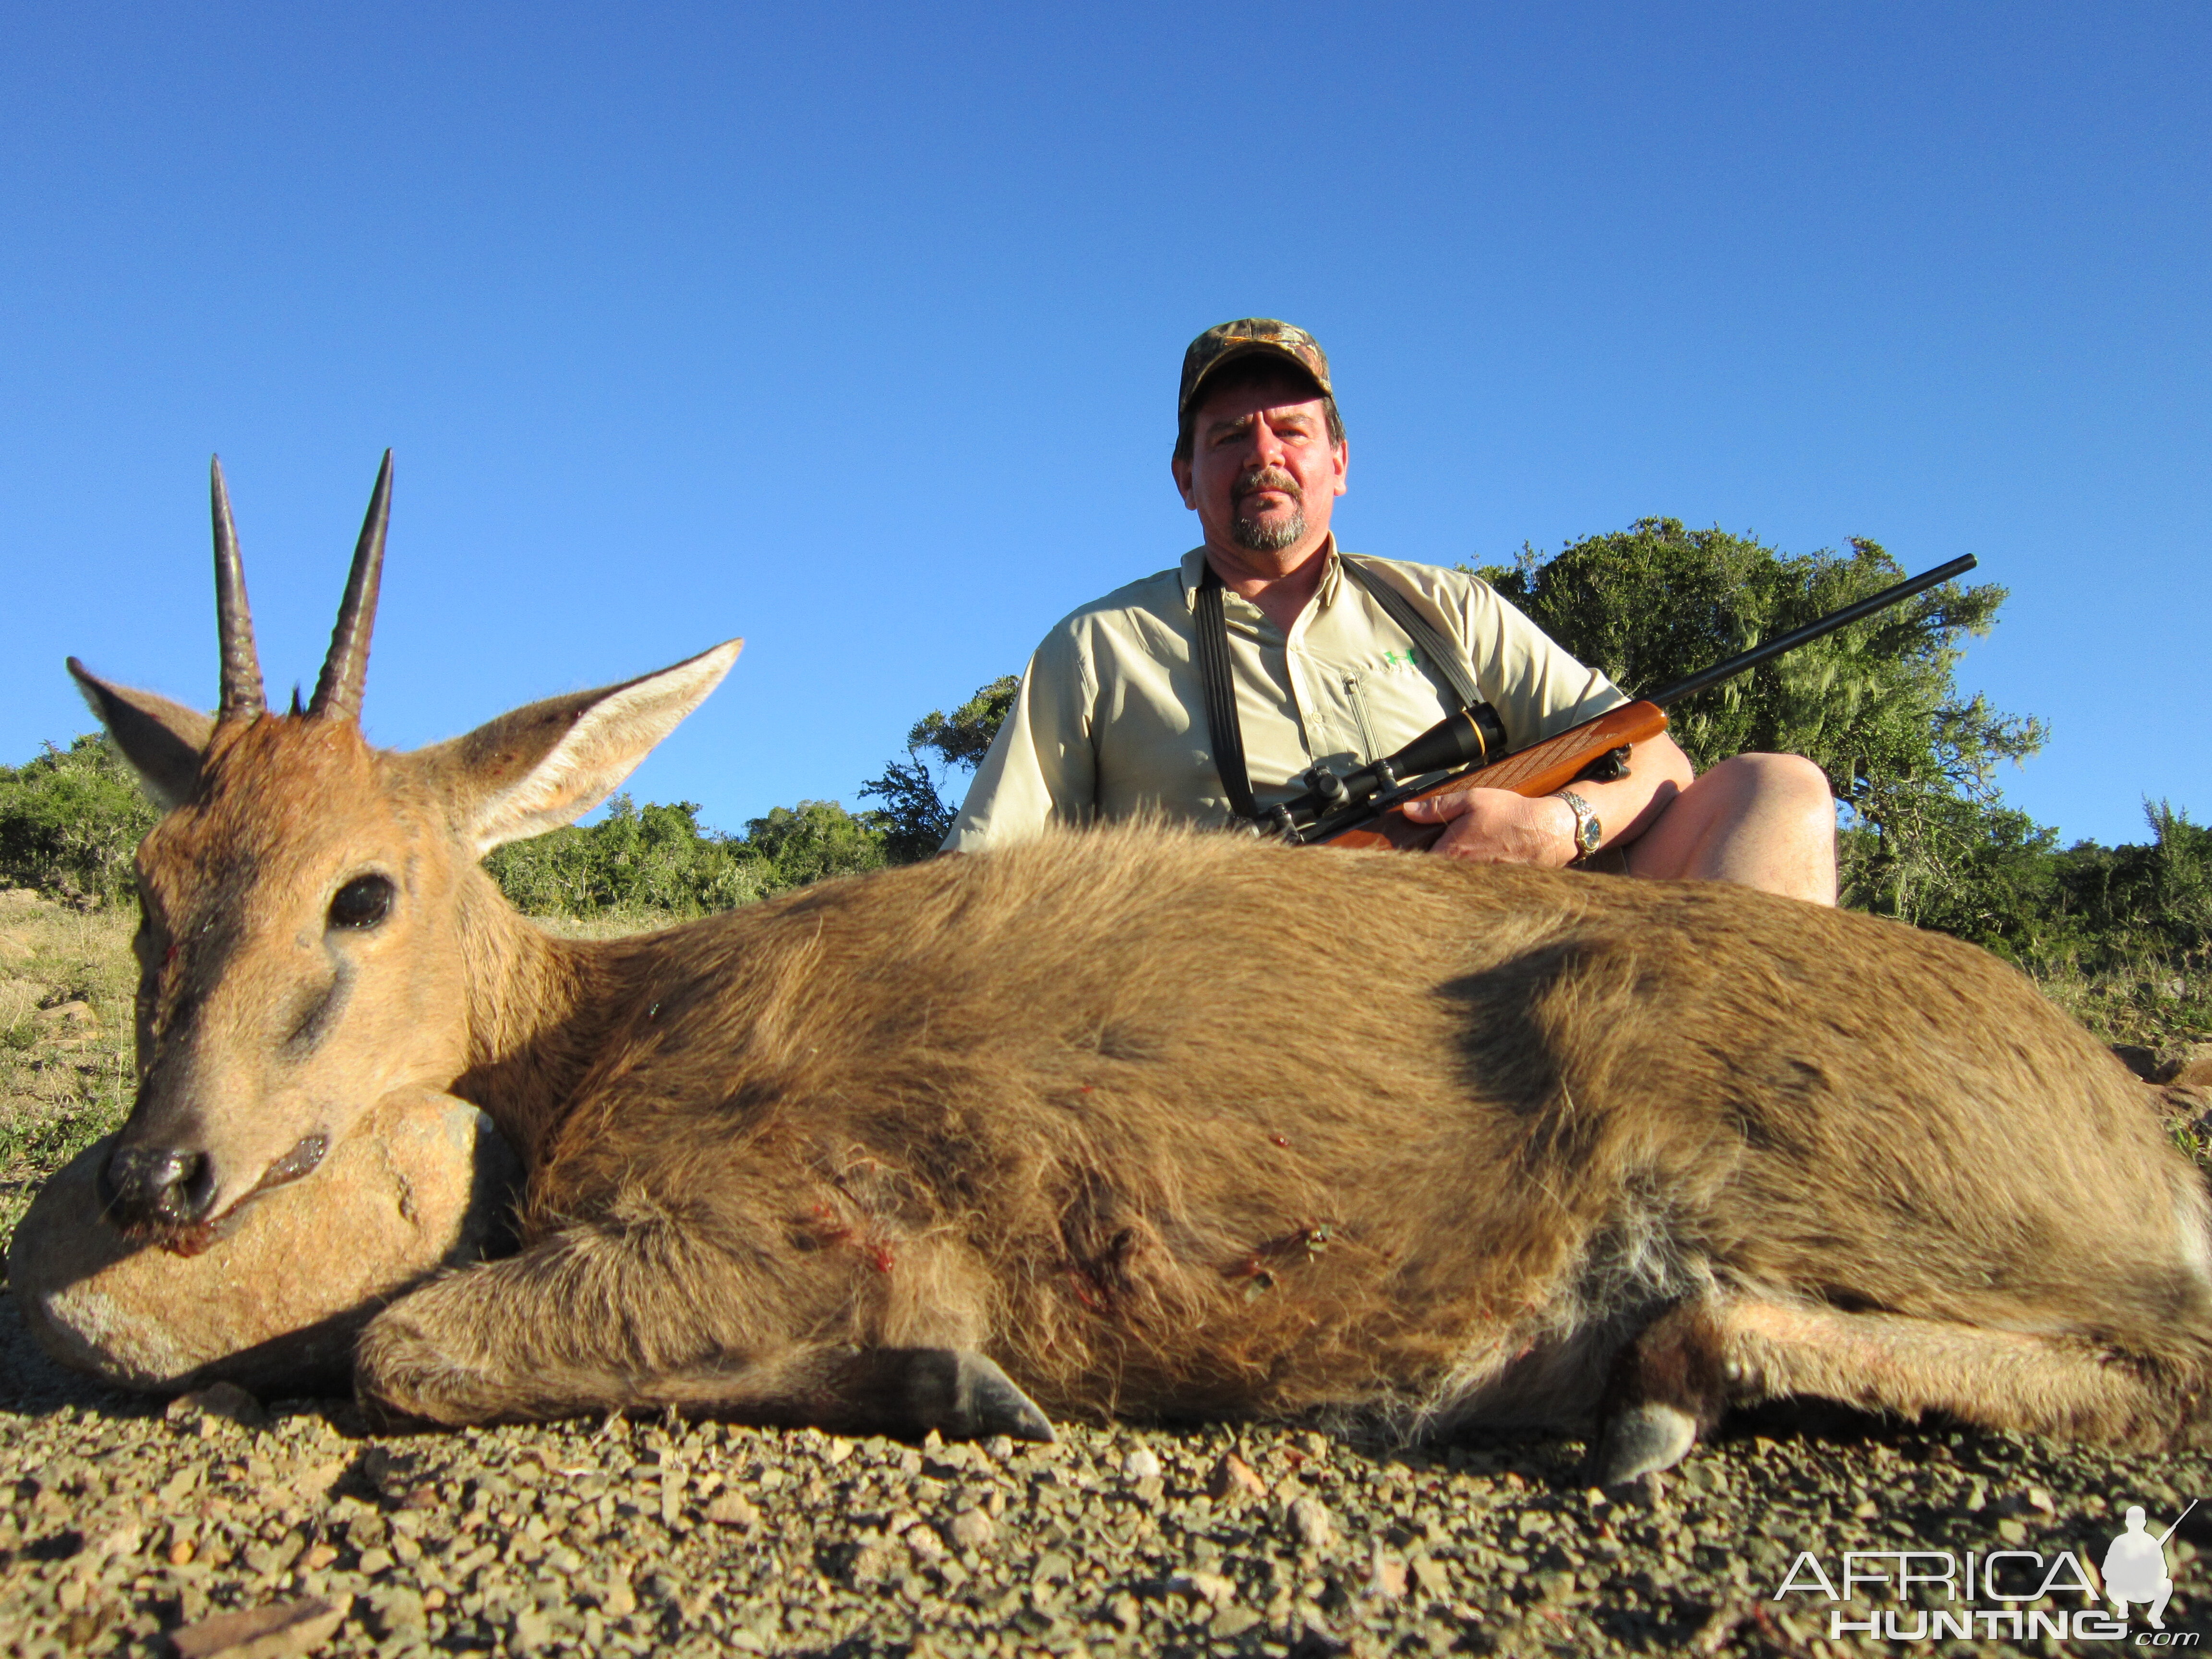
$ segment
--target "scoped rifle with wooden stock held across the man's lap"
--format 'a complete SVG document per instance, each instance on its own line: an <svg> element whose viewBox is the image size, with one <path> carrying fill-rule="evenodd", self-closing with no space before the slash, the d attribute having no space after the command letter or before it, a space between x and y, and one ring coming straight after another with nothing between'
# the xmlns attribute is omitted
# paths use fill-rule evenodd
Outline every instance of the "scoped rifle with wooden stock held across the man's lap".
<svg viewBox="0 0 2212 1659"><path fill-rule="evenodd" d="M1416 737L1396 754L1389 754L1358 772L1334 776L1325 768L1314 768L1314 787L1294 801L1263 812L1256 821L1259 834L1279 836L1292 845L1329 847L1398 847L1420 852L1444 834L1440 823L1413 823L1405 816L1409 801L1427 801L1455 790L1513 790L1513 794L1551 794L1582 779L1610 781L1628 772L1628 745L1666 730L1666 706L1692 697L1723 679L1750 672L1770 664L1787 650L1818 639L1820 635L1847 628L1860 617L1887 611L1900 599L1933 588L1964 575L1978 564L1973 553L1938 564L1933 571L1882 588L1856 604L1832 611L1818 622L1792 628L1739 657L1703 668L1688 679L1655 690L1635 703L1608 708L1604 714L1584 721L1542 743L1506 750L1504 728L1489 703L1462 708L1447 714L1427 732ZM1433 783L1405 783L1425 779L1431 772L1447 772Z"/></svg>

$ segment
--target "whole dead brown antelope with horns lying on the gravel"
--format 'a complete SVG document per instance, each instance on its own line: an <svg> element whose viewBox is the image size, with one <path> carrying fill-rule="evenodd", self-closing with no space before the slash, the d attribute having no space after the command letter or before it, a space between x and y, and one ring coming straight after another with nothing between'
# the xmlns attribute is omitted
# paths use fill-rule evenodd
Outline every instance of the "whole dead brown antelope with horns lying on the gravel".
<svg viewBox="0 0 2212 1659"><path fill-rule="evenodd" d="M737 641L372 750L387 495L389 458L303 712L263 703L221 476L219 712L71 664L170 807L117 1212L188 1239L398 1088L524 1155L522 1252L369 1325L374 1407L1595 1420L1606 1480L1787 1394L2205 1433L2203 1181L1982 951L1157 830L553 940L478 858L604 799Z"/></svg>

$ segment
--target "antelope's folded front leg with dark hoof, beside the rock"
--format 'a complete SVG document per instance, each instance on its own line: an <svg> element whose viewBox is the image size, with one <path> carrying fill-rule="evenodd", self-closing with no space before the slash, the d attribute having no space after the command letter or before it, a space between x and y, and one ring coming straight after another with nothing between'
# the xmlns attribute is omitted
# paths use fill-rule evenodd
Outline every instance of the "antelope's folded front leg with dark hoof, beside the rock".
<svg viewBox="0 0 2212 1659"><path fill-rule="evenodd" d="M768 1332L732 1347L697 1323L641 1332L639 1321L604 1312L666 1305L670 1276L699 1292L701 1272L710 1272L701 1254L670 1274L664 1256L624 1250L602 1232L557 1234L520 1256L425 1285L378 1314L354 1356L356 1389L385 1420L440 1425L644 1407L841 1433L1053 1438L1035 1402L973 1349ZM739 1276L734 1263L728 1276ZM580 1281L597 1294L580 1298ZM633 1281L630 1296L622 1294L624 1281ZM723 1301L730 1285L721 1292L708 1292L703 1305Z"/></svg>

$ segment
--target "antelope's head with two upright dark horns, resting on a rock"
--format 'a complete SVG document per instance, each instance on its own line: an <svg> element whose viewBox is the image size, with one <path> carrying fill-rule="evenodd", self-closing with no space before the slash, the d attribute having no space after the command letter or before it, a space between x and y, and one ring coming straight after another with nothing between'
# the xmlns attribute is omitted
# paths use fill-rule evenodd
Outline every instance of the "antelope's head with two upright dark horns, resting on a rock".
<svg viewBox="0 0 2212 1659"><path fill-rule="evenodd" d="M137 852L137 1102L104 1172L128 1232L192 1250L310 1175L376 1099L471 1062L478 858L604 801L743 641L502 714L409 754L361 737L392 453L314 699L272 712L223 471L212 469L215 714L69 670L166 816Z"/></svg>

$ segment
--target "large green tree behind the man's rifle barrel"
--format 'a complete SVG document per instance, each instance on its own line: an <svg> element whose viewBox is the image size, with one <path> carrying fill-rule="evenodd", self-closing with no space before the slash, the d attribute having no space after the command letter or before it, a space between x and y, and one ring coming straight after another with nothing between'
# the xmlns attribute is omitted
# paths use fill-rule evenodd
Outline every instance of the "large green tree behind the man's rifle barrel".
<svg viewBox="0 0 2212 1659"><path fill-rule="evenodd" d="M1621 690L1657 690L1898 582L1878 544L1790 555L1725 531L1646 518L1542 557L1484 568L1553 639ZM1966 635L1984 635L2004 588L1931 588L1843 633L1668 710L1701 770L1745 750L1805 754L1845 805L1845 896L1905 920L1973 907L1993 836L2026 854L2033 825L1995 821L2000 761L2042 748L2044 726L1962 699ZM2017 814L2013 814L2017 818ZM2037 849L2042 843L2035 843Z"/></svg>

